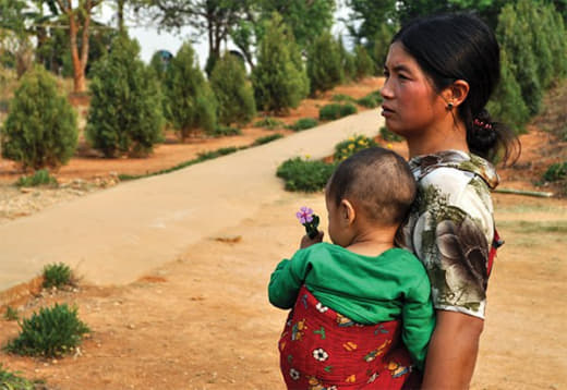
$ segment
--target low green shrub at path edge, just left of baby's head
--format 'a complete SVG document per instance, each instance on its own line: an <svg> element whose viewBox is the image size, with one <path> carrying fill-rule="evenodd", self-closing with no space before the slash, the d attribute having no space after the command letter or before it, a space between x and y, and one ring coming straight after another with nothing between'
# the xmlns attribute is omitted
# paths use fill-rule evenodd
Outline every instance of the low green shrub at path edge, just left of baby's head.
<svg viewBox="0 0 567 390"><path fill-rule="evenodd" d="M325 188L334 170L335 164L297 157L281 163L276 175L284 179L288 191L316 192Z"/></svg>

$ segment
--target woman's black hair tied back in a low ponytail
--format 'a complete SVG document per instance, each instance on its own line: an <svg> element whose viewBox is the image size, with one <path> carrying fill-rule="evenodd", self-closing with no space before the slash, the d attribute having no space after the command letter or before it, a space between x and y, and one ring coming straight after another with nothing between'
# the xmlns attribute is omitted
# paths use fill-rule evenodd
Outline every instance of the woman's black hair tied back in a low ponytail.
<svg viewBox="0 0 567 390"><path fill-rule="evenodd" d="M520 154L516 134L495 122L485 106L500 78L500 51L494 33L472 14L444 14L415 19L391 39L401 42L441 93L458 80L469 84L469 94L458 107L467 127L471 153L494 161L502 150L503 161Z"/></svg>

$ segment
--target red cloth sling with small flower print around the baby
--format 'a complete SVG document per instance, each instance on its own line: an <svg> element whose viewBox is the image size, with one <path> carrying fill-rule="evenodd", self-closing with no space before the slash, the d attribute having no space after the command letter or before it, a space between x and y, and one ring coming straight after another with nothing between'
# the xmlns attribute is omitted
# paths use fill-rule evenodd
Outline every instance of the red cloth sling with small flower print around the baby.
<svg viewBox="0 0 567 390"><path fill-rule="evenodd" d="M363 326L325 307L302 287L279 340L288 389L419 389L400 321Z"/></svg>

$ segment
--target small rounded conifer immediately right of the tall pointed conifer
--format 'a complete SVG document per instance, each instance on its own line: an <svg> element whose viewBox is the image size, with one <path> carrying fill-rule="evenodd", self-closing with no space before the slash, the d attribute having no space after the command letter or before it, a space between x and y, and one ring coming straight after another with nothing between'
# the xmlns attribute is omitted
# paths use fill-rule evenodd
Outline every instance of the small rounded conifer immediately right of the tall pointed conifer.
<svg viewBox="0 0 567 390"><path fill-rule="evenodd" d="M311 93L327 90L345 78L339 44L330 33L315 38L307 54L307 75Z"/></svg>

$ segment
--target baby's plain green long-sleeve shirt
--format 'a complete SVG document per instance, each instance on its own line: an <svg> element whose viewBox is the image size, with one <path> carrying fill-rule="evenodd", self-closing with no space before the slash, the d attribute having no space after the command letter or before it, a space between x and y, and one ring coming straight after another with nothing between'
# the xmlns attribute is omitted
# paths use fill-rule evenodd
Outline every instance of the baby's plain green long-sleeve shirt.
<svg viewBox="0 0 567 390"><path fill-rule="evenodd" d="M391 248L370 257L328 243L312 245L276 267L269 302L293 307L303 284L323 305L355 322L400 319L403 343L418 367L423 367L435 316L430 279L410 252Z"/></svg>

